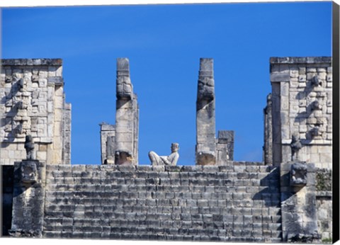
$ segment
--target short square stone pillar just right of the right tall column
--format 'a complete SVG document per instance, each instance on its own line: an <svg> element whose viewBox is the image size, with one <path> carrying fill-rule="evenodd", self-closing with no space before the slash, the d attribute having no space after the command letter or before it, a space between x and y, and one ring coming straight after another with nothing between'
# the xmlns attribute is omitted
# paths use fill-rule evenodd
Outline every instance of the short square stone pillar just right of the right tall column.
<svg viewBox="0 0 340 245"><path fill-rule="evenodd" d="M216 162L224 165L227 161L234 160L234 131L218 130L216 139Z"/></svg>

